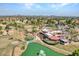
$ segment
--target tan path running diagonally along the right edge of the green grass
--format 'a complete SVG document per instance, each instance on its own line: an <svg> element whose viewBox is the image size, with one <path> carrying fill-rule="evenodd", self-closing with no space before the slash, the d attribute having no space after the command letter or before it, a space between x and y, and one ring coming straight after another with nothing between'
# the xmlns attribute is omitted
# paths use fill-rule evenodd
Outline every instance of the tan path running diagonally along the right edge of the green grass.
<svg viewBox="0 0 79 59"><path fill-rule="evenodd" d="M42 40L38 36L36 36L36 39L34 39L33 42L39 43L43 46L46 46L46 47L50 48L51 50L54 50L54 51L56 51L58 53L61 53L61 54L64 54L64 55L69 55L69 54L72 53L72 52L69 52L69 51L66 51L66 50L63 50L63 49L59 49L55 46L48 45L48 44L42 42Z"/></svg>

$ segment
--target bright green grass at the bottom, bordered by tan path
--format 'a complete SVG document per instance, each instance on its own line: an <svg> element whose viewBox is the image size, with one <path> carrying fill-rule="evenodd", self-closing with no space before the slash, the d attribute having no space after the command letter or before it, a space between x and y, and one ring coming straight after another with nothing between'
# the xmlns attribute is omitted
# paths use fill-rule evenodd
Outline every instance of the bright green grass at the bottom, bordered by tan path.
<svg viewBox="0 0 79 59"><path fill-rule="evenodd" d="M27 49L22 53L22 56L37 56L40 50L43 50L46 56L64 56L63 54L57 53L37 43L30 43Z"/></svg>

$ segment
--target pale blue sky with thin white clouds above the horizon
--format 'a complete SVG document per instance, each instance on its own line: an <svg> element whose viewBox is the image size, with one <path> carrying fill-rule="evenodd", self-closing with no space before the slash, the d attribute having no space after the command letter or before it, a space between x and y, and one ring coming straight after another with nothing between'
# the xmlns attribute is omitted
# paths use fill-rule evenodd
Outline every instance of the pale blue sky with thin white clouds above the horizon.
<svg viewBox="0 0 79 59"><path fill-rule="evenodd" d="M0 15L79 16L79 3L0 3Z"/></svg>

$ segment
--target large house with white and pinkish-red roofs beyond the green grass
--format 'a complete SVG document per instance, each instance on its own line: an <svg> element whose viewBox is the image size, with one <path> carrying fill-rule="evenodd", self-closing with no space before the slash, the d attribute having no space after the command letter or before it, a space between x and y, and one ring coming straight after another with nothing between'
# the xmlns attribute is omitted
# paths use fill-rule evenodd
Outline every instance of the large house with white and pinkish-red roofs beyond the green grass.
<svg viewBox="0 0 79 59"><path fill-rule="evenodd" d="M43 35L45 35L45 37L47 37L50 40L53 41L59 41L61 39L62 36L62 31L60 30L54 30L54 31L50 31L48 29L43 29L42 30Z"/></svg>

